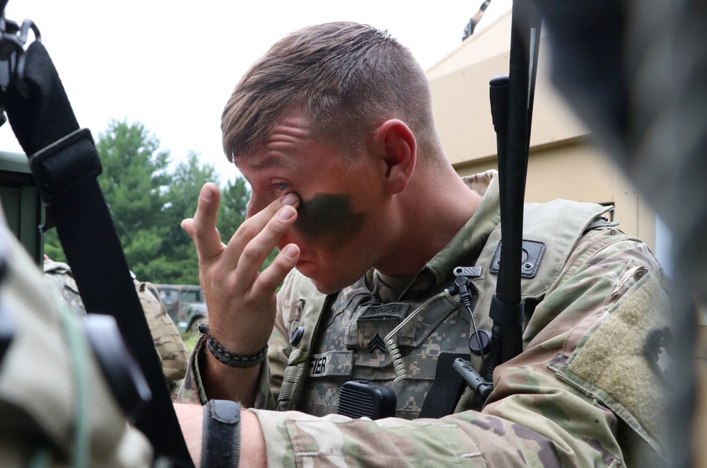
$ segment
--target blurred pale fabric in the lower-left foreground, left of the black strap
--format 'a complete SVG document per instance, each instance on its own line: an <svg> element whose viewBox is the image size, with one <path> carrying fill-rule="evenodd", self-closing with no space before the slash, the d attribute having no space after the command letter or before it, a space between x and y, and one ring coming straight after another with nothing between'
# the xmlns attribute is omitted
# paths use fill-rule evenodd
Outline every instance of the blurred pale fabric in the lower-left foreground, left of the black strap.
<svg viewBox="0 0 707 468"><path fill-rule="evenodd" d="M3 319L0 467L152 467L152 448L129 426L81 331L0 213Z"/></svg>

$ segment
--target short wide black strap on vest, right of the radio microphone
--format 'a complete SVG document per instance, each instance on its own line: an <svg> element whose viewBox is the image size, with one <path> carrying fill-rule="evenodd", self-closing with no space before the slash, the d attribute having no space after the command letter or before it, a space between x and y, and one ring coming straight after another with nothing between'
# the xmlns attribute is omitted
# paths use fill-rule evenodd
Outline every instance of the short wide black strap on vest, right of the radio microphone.
<svg viewBox="0 0 707 468"><path fill-rule="evenodd" d="M467 359L468 354L441 353L437 359L435 381L427 393L418 418L441 418L454 412L462 392L464 379L454 369L456 358Z"/></svg>

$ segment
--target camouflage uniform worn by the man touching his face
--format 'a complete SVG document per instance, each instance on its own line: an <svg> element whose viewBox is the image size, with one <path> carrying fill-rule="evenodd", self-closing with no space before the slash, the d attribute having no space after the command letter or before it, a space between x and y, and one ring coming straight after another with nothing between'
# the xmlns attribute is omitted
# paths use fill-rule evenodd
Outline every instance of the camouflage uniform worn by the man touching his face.
<svg viewBox="0 0 707 468"><path fill-rule="evenodd" d="M482 268L472 280L474 317L480 329L491 327L498 182L495 172L465 182L484 196L479 209L404 291L375 271L329 297L297 272L285 280L250 409L271 466L620 466L639 454L664 462L662 382L644 349L649 333L667 325L667 280L643 242L602 221L607 207L599 205L526 206L524 239L546 250L537 276L522 280L525 351L496 368L485 406L467 388L454 414L415 419L440 353L469 355L469 317L443 293L455 267ZM395 336L406 376L394 388L397 417L334 414L343 382L392 382L392 358L379 338L436 295ZM298 327L303 338L293 346L288 337ZM196 353L203 350L201 340ZM192 356L184 394L204 403L197 362ZM471 362L480 368L479 357Z"/></svg>

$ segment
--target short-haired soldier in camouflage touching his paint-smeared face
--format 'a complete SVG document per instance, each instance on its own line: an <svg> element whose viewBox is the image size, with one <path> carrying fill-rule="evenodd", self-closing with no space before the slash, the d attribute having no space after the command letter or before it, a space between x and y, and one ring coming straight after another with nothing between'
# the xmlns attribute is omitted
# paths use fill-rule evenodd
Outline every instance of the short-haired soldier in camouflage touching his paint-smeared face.
<svg viewBox="0 0 707 468"><path fill-rule="evenodd" d="M496 368L486 402L438 391L449 356L483 365L450 286L455 267L481 268L473 314L488 329L498 177L457 176L426 76L390 35L356 23L288 35L238 83L222 130L252 199L228 245L214 185L182 223L209 308L182 391L208 411L176 406L197 462L665 462L667 280L604 206L526 207L523 238L544 253L522 280L524 351ZM359 379L392 387L395 417L336 414L341 386Z"/></svg>

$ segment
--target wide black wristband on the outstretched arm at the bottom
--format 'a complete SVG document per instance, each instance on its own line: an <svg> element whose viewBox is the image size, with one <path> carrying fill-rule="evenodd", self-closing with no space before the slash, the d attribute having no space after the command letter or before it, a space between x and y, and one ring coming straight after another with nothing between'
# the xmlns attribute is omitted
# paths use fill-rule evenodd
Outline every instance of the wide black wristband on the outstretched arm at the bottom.
<svg viewBox="0 0 707 468"><path fill-rule="evenodd" d="M201 466L238 468L240 460L240 404L210 399L204 406Z"/></svg>

